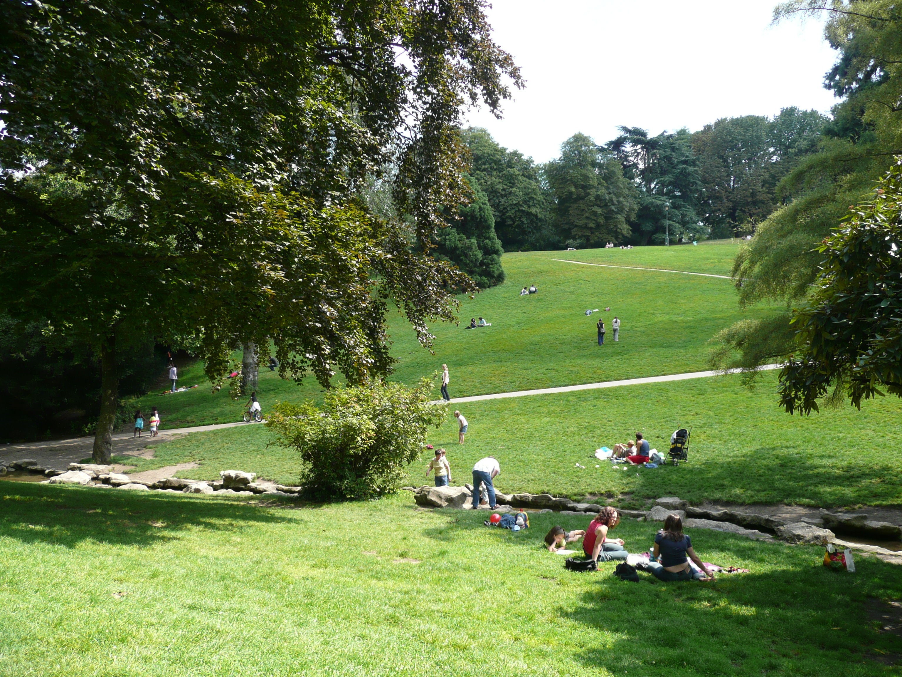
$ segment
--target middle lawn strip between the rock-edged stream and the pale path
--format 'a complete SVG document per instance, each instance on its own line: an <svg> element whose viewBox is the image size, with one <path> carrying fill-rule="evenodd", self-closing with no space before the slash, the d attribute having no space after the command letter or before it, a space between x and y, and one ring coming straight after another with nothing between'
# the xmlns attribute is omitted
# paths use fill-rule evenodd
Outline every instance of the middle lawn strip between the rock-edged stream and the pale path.
<svg viewBox="0 0 902 677"><path fill-rule="evenodd" d="M716 376L467 403L459 405L470 423L465 445L457 444L450 415L429 441L448 450L456 484L471 481L468 471L477 459L495 456L502 464L497 485L511 493L620 496L624 507L658 496L824 507L902 504L902 401L881 398L863 403L861 412L842 407L802 418L778 410L775 385L770 372L751 392L739 376ZM677 423L693 427L685 465L615 470L592 455L637 430L666 452ZM270 431L259 425L192 433L161 444L157 458L139 459L137 469L198 461L200 468L179 475L214 479L219 470L236 468L296 483L294 453L267 447L269 441ZM412 467L410 483L426 483L423 473Z"/></svg>

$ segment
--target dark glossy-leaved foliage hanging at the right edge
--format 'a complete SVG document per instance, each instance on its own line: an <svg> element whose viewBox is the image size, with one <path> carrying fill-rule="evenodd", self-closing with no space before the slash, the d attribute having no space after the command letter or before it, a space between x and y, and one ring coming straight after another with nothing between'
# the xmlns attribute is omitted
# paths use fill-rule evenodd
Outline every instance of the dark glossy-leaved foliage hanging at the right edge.
<svg viewBox="0 0 902 677"><path fill-rule="evenodd" d="M794 312L798 349L780 374L787 412L817 411L835 399L886 391L902 397L902 157L873 199L818 247L824 256L815 292ZM881 390L882 389L882 390Z"/></svg>

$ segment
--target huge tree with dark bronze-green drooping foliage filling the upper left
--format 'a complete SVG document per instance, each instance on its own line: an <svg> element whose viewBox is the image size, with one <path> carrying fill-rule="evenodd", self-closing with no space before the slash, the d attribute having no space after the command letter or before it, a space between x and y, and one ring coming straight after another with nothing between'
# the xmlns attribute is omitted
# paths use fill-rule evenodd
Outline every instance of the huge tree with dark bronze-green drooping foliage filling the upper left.
<svg viewBox="0 0 902 677"><path fill-rule="evenodd" d="M520 85L481 0L10 0L0 25L0 311L96 348L98 461L133 342L216 378L272 339L282 376L359 383L391 368L389 296L428 343L473 288L428 253L465 202L462 107ZM397 219L356 197L387 165Z"/></svg>

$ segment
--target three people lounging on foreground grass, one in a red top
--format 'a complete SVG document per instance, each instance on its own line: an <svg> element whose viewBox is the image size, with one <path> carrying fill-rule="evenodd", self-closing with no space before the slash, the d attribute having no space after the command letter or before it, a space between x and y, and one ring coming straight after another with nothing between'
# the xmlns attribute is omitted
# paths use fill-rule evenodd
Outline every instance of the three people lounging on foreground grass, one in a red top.
<svg viewBox="0 0 902 677"><path fill-rule="evenodd" d="M564 550L569 543L582 539L583 552L592 561L626 561L630 553L621 538L608 538L608 533L620 523L620 515L610 505L605 505L595 515L589 528L567 532L553 526L545 536L548 552ZM693 569L689 560L695 562ZM683 533L683 520L679 515L667 515L664 528L655 534L655 543L649 552L649 560L641 559L636 569L648 570L658 580L713 580L714 573L692 548L692 539Z"/></svg>

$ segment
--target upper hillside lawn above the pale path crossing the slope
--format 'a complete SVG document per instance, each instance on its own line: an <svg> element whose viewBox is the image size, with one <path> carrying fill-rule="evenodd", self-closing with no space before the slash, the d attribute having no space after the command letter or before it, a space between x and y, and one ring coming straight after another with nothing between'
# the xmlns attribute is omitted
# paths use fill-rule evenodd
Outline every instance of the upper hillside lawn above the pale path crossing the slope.
<svg viewBox="0 0 902 677"><path fill-rule="evenodd" d="M639 256L649 266L680 269L722 266L729 269L736 246L674 246L585 250L568 255ZM610 381L700 371L707 368L707 341L718 330L746 317L762 317L773 308L742 311L728 280L691 275L595 268L552 260L559 253L505 254L508 282L464 300L460 317L483 316L492 327L467 330L453 325L433 327L435 355L421 348L410 327L392 316L393 354L398 358L395 380L415 382L446 363L451 370L452 397L511 390ZM662 263L661 257L671 263ZM599 259L601 260L601 259ZM606 260L606 259L605 259ZM638 261L630 258L627 264ZM720 270L720 268L717 268ZM539 293L518 294L535 283ZM585 316L586 309L610 312ZM599 315L609 332L597 345ZM622 322L621 341L614 343L610 322ZM225 391L210 394L202 368L183 371L182 385L195 390L145 396L139 405L160 407L164 428L240 420L242 403ZM264 408L277 401L318 399L322 389L312 378L298 386L264 369L259 395ZM438 393L436 391L436 396Z"/></svg>

